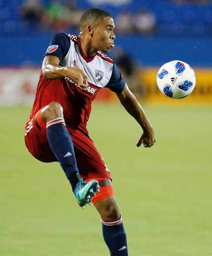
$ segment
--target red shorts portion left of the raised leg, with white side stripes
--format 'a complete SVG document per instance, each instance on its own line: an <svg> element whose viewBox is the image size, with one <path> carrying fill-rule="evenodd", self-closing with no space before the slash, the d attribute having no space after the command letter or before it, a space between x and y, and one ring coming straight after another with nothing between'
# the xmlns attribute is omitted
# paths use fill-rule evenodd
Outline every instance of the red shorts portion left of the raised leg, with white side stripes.
<svg viewBox="0 0 212 256"><path fill-rule="evenodd" d="M42 162L57 161L49 147L46 136L46 124L43 122L40 112L41 109L25 127L26 147L30 154Z"/></svg>

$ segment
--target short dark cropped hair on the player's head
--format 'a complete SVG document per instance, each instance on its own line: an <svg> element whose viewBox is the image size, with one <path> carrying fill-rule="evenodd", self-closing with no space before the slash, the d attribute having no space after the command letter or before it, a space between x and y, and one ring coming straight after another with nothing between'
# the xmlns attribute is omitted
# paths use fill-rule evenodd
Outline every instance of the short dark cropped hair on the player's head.
<svg viewBox="0 0 212 256"><path fill-rule="evenodd" d="M82 30L82 28L87 25L88 23L96 23L98 21L100 21L101 19L104 19L105 17L111 17L112 16L99 8L90 8L87 9L81 16L80 18L80 29Z"/></svg>

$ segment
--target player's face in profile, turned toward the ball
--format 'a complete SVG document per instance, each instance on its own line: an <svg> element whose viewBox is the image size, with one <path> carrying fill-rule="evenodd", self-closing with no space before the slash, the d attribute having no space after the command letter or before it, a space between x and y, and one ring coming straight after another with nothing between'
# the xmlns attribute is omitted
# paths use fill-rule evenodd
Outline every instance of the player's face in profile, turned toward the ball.
<svg viewBox="0 0 212 256"><path fill-rule="evenodd" d="M93 47L98 51L109 52L114 47L115 24L112 18L105 17L94 27Z"/></svg>

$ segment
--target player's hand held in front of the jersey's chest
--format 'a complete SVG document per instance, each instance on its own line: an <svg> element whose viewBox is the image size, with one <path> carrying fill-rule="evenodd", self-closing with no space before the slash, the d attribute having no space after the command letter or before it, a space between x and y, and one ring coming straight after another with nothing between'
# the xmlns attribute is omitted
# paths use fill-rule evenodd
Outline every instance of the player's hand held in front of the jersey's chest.
<svg viewBox="0 0 212 256"><path fill-rule="evenodd" d="M88 87L87 76L80 68L65 67L64 71L65 77L78 85L81 90L85 90Z"/></svg>

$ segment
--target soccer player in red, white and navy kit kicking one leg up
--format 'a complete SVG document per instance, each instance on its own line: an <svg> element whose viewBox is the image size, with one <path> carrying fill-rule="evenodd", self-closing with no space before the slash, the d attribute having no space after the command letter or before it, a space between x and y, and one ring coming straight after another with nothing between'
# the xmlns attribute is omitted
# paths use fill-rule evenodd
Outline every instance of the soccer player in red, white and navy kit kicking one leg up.
<svg viewBox="0 0 212 256"><path fill-rule="evenodd" d="M137 146L155 143L152 125L130 92L112 59L114 21L104 10L86 10L77 36L57 34L47 48L35 102L26 124L29 152L43 162L58 161L80 206L93 203L102 219L103 237L111 256L128 256L122 216L110 172L86 129L91 102L103 88L116 93L141 125Z"/></svg>

